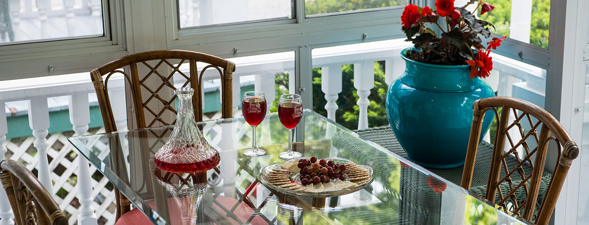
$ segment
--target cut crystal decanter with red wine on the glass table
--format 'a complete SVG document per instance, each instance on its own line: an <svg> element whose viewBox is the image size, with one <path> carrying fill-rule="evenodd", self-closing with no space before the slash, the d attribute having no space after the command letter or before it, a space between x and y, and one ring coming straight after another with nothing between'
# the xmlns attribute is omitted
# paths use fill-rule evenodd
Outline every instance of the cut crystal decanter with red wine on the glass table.
<svg viewBox="0 0 589 225"><path fill-rule="evenodd" d="M194 120L192 95L194 89L176 89L180 100L176 125L170 139L155 153L154 164L173 173L197 173L219 164L219 152L204 140Z"/></svg>

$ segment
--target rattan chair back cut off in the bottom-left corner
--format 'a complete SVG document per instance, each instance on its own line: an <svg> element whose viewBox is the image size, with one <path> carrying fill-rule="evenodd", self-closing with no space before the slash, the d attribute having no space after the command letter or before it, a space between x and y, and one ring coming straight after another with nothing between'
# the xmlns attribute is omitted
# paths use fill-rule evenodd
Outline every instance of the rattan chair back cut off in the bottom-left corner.
<svg viewBox="0 0 589 225"><path fill-rule="evenodd" d="M68 224L67 217L51 194L21 163L2 160L0 179L12 206L16 224Z"/></svg>

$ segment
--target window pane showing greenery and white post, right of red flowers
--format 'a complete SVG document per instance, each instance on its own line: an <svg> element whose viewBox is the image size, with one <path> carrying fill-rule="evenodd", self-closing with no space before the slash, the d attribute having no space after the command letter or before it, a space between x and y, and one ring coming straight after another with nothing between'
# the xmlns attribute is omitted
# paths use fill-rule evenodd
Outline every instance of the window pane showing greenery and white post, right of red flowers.
<svg viewBox="0 0 589 225"><path fill-rule="evenodd" d="M481 19L495 25L494 33L548 48L550 0L487 0L485 2L494 5L495 9L481 15Z"/></svg>

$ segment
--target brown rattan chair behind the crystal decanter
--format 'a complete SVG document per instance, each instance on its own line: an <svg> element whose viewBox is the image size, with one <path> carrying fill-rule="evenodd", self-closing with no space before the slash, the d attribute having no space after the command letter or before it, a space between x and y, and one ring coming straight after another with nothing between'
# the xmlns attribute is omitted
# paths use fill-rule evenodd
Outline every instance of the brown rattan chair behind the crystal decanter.
<svg viewBox="0 0 589 225"><path fill-rule="evenodd" d="M197 68L197 62L206 63L203 68ZM190 72L188 75L180 70L183 63L188 63ZM139 66L143 67L139 69ZM127 71L121 68L128 68ZM200 69L200 71L199 71ZM222 70L221 70L222 69ZM163 73L163 71L166 71ZM171 70L171 72L170 72ZM221 113L223 118L230 118L233 115L232 79L235 64L221 59L217 56L207 55L199 52L181 50L161 50L151 52L135 53L124 56L90 72L92 83L96 89L98 104L102 114L102 120L106 132L117 131L110 96L108 95L108 82L112 75L121 73L128 82L133 102L134 122L138 129L173 125L176 120L164 118L165 113L177 113L175 108L176 95L166 98L172 90L177 88L190 87L194 89L193 107L196 121L202 121L203 113L200 109L202 96L203 75L206 70L219 72L221 79ZM140 76L140 71L147 71L147 74ZM170 73L168 73L170 72ZM200 73L199 73L200 72ZM171 80L178 74L186 79L180 86L174 86ZM153 86L150 83L158 83ZM163 92L168 92L164 93ZM166 95L167 94L167 95ZM115 96L118 97L118 96ZM158 104L155 104L157 102ZM113 156L116 157L116 156ZM116 164L116 162L115 162ZM126 174L126 173L125 173ZM130 210L129 200L115 189L117 198L116 218Z"/></svg>

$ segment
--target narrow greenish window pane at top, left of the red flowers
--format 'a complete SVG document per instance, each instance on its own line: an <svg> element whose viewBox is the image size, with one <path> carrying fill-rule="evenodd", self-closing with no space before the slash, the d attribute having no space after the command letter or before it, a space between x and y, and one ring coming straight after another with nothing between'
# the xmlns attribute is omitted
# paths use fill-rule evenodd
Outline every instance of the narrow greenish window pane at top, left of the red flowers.
<svg viewBox="0 0 589 225"><path fill-rule="evenodd" d="M305 15L332 14L335 12L407 5L407 2L407 0L305 0Z"/></svg>

